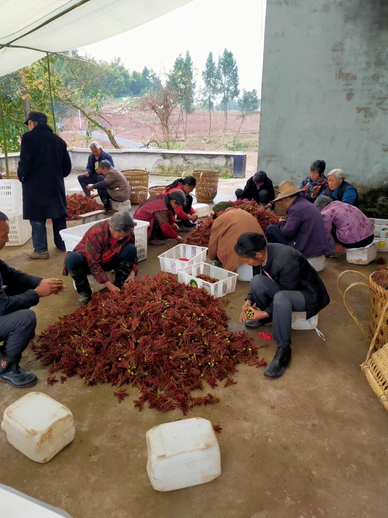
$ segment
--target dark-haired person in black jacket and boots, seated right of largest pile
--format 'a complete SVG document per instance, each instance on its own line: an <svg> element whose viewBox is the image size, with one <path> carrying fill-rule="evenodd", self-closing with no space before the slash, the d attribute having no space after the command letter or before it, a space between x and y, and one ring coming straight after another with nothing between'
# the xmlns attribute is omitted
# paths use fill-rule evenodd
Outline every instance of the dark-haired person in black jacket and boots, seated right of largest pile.
<svg viewBox="0 0 388 518"><path fill-rule="evenodd" d="M330 303L329 294L301 252L286 244L267 243L263 234L245 232L234 251L253 269L239 321L247 327L272 322L277 349L264 376L279 378L291 363L292 312L306 311L309 319ZM247 316L247 310L253 314Z"/></svg>

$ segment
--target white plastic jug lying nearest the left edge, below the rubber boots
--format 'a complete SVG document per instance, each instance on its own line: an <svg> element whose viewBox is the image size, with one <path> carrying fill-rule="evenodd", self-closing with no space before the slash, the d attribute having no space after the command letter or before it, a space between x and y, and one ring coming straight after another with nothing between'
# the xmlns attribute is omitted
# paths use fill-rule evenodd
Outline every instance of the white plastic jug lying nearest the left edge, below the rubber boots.
<svg viewBox="0 0 388 518"><path fill-rule="evenodd" d="M76 436L70 410L42 392L30 392L7 407L2 428L14 448L41 463Z"/></svg>

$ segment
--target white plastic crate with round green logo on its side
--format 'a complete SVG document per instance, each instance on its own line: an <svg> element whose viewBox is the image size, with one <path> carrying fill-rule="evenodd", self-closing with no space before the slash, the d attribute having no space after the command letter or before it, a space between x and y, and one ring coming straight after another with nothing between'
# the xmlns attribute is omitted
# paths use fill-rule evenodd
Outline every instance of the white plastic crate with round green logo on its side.
<svg viewBox="0 0 388 518"><path fill-rule="evenodd" d="M208 277L219 279L219 281L211 284L198 279L197 275L207 275ZM215 298L223 297L227 293L233 293L236 289L237 277L238 274L234 271L224 270L207 263L192 264L178 271L178 282L189 284L196 288L203 288Z"/></svg>

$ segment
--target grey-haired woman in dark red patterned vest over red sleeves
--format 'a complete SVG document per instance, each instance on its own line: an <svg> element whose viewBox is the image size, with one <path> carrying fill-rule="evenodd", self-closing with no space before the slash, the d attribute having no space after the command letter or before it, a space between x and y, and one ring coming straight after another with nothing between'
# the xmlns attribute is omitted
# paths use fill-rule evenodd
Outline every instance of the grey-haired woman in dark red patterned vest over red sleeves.
<svg viewBox="0 0 388 518"><path fill-rule="evenodd" d="M183 207L186 196L183 191L173 191L170 194L159 194L151 196L143 202L133 214L133 218L141 221L148 221L147 238L149 244L156 246L165 244L161 238L173 238L178 243L183 239L176 231L179 229L175 223L173 210Z"/></svg>

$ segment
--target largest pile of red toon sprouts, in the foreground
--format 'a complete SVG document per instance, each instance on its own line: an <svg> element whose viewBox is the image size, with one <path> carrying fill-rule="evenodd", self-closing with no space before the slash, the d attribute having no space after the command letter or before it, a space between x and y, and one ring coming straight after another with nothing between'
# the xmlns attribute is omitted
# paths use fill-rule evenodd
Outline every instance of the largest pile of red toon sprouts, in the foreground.
<svg viewBox="0 0 388 518"><path fill-rule="evenodd" d="M204 290L161 273L94 296L44 330L33 349L51 373L78 373L88 385L129 384L140 392L135 401L140 410L148 401L150 408L186 414L195 405L218 401L192 391L205 384L214 389L217 380L233 384L238 363L266 365L246 333L231 333L227 320Z"/></svg>

